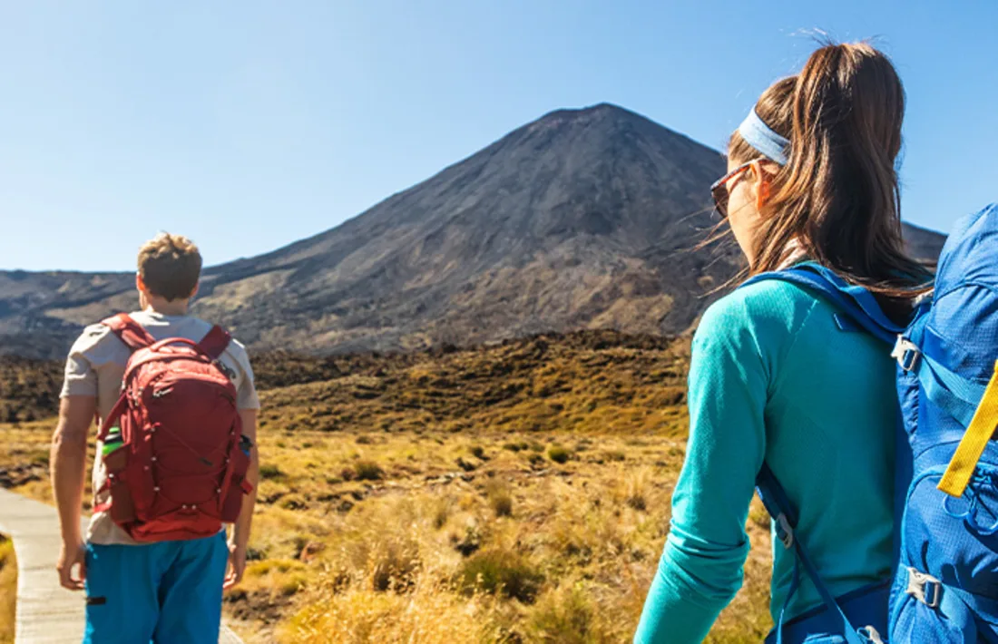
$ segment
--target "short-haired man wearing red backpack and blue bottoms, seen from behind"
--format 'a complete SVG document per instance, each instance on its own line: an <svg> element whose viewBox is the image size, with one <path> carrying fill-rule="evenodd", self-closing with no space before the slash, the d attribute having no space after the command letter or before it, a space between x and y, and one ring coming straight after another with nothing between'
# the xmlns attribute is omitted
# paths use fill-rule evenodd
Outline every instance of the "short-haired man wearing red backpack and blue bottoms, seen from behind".
<svg viewBox="0 0 998 644"><path fill-rule="evenodd" d="M246 348L188 315L201 268L184 237L148 242L136 278L141 311L88 326L66 361L52 486L60 581L86 590L85 644L214 644L223 588L243 577L259 400ZM95 416L94 506L84 538ZM228 543L226 523L234 524Z"/></svg>

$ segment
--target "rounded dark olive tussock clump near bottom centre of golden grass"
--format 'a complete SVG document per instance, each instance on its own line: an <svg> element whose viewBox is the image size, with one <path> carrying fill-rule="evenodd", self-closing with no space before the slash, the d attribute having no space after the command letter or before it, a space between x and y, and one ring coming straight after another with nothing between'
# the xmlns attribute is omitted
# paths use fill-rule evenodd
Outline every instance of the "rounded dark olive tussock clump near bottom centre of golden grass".
<svg viewBox="0 0 998 644"><path fill-rule="evenodd" d="M458 572L458 581L465 593L480 590L529 604L537 596L544 575L518 553L495 548L465 560Z"/></svg>

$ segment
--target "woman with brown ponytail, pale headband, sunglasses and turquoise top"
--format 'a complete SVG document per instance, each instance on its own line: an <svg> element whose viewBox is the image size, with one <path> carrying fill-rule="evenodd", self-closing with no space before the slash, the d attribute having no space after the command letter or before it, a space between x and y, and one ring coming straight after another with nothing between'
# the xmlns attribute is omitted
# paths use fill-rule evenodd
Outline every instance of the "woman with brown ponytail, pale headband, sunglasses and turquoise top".
<svg viewBox="0 0 998 644"><path fill-rule="evenodd" d="M865 287L891 317L907 317L927 275L901 239L903 113L894 67L867 44L821 47L799 74L762 93L732 135L729 173L714 187L750 276L814 262ZM701 642L735 597L763 463L796 508L795 533L830 593L865 606L885 633L895 362L835 314L812 293L765 280L704 315L686 463L635 642ZM842 641L830 639L835 620L815 586L806 577L794 585L794 551L775 542L770 612L777 624L782 618L782 641ZM774 629L768 641L775 637Z"/></svg>

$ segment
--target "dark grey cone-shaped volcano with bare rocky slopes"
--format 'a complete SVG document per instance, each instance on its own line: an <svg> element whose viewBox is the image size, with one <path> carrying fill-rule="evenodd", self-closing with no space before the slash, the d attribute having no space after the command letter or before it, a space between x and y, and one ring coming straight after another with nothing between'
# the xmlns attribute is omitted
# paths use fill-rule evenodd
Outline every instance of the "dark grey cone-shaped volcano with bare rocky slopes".
<svg viewBox="0 0 998 644"><path fill-rule="evenodd" d="M724 171L718 152L627 110L553 112L342 226L209 270L196 312L259 349L681 330L741 261L693 250ZM931 253L941 238L926 235ZM80 324L133 306L131 288L0 274L4 350L59 354Z"/></svg>

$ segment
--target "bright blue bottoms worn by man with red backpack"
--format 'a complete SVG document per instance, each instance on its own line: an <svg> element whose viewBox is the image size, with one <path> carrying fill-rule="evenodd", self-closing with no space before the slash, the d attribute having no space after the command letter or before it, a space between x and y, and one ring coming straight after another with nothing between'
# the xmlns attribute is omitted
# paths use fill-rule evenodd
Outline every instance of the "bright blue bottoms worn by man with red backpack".
<svg viewBox="0 0 998 644"><path fill-rule="evenodd" d="M226 534L87 546L84 644L218 644Z"/></svg>

